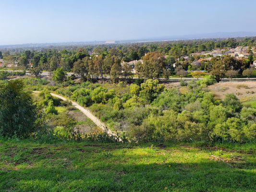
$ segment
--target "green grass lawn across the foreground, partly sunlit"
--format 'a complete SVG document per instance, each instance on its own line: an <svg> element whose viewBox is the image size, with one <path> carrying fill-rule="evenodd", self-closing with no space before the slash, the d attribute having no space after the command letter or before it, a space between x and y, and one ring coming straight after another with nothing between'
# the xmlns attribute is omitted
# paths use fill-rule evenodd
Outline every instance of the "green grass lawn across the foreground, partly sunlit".
<svg viewBox="0 0 256 192"><path fill-rule="evenodd" d="M255 192L255 151L0 140L0 192Z"/></svg>

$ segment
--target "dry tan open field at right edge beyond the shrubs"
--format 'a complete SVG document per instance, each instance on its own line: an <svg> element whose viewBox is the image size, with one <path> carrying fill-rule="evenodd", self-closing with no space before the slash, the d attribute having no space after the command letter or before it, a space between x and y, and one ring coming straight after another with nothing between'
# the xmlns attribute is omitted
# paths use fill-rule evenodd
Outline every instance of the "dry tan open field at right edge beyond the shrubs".
<svg viewBox="0 0 256 192"><path fill-rule="evenodd" d="M226 94L234 93L238 98L256 95L256 82L220 82L208 86L217 98L223 99Z"/></svg>

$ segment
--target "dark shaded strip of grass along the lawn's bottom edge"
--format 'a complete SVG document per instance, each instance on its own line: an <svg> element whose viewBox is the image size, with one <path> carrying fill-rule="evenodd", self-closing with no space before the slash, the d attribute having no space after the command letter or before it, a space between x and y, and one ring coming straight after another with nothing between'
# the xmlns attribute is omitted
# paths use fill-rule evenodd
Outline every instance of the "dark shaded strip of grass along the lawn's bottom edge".
<svg viewBox="0 0 256 192"><path fill-rule="evenodd" d="M256 173L230 168L220 162L201 163L107 163L95 166L77 162L44 167L0 171L1 191L192 191L215 192L256 190ZM244 167L236 163L235 167ZM255 168L255 167L254 167Z"/></svg>

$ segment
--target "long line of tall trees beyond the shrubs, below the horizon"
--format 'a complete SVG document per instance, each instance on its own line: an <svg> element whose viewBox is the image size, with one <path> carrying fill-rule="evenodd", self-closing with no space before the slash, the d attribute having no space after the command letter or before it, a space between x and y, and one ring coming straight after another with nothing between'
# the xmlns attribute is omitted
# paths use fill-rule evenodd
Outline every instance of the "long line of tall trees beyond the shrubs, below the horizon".
<svg viewBox="0 0 256 192"><path fill-rule="evenodd" d="M84 81L97 80L107 75L113 82L117 82L120 77L131 79L134 76L133 70L138 77L144 79L160 77L168 79L172 74L182 77L191 71L205 70L215 75L219 81L224 75L243 74L254 60L252 52L248 59L238 60L230 56L215 57L212 60L202 61L199 67L192 62L200 57L193 57L190 53L210 51L214 48L235 48L240 45L249 46L251 50L255 46L255 38L124 44L94 48L90 46L76 50L25 50L16 54L10 54L7 51L2 54L2 57L5 60L17 60L19 67L30 69L36 76L42 70L54 72L61 68L64 72L79 74ZM188 59L184 59L185 56L189 56ZM127 63L131 60L142 60L142 62L138 61L133 66ZM249 73L251 71L246 74ZM245 76L248 76L246 74ZM196 72L196 75L200 75L200 72Z"/></svg>

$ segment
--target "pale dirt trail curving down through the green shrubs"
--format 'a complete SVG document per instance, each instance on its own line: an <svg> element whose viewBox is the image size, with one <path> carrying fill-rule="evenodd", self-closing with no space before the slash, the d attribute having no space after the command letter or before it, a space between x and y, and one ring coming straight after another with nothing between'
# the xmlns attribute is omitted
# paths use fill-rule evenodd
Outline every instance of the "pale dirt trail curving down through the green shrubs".
<svg viewBox="0 0 256 192"><path fill-rule="evenodd" d="M40 93L40 91L33 91L34 93ZM52 96L55 96L63 101L70 101L72 103L72 105L79 109L82 113L85 114L85 116L87 116L90 120L92 120L100 129L102 129L103 131L105 130L105 128L107 127L103 122L101 122L101 120L98 119L98 117L96 117L95 115L93 115L91 113L91 111L89 111L88 109L80 106L78 103L74 102L74 101L71 101L63 96L60 96L60 95L57 95L57 94L54 94L54 93L50 93L50 95ZM108 129L108 134L111 136L117 136L115 132L112 132Z"/></svg>

